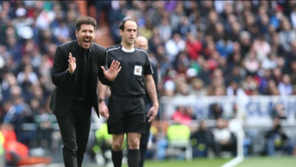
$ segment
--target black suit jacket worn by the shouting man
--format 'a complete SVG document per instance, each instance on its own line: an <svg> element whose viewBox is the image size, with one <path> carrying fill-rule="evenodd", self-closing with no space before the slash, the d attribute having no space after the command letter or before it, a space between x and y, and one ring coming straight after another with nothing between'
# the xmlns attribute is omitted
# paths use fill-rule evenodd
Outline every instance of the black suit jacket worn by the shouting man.
<svg viewBox="0 0 296 167"><path fill-rule="evenodd" d="M64 116L70 109L73 100L79 67L76 66L74 74L67 80L66 70L68 68L69 52L76 59L76 64L79 60L77 40L64 43L57 47L54 55L54 65L52 69L52 82L55 85L52 97L49 103L49 108L57 117ZM92 105L99 116L99 105L97 100L97 81L99 80L104 84L111 86L112 81L105 78L101 66L107 68L107 51L101 45L92 43L91 45L91 97Z"/></svg>

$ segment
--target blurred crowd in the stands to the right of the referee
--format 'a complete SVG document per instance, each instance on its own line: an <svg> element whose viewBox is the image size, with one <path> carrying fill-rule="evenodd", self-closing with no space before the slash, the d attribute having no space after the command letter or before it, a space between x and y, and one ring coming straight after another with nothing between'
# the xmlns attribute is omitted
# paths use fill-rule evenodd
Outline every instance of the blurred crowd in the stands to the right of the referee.
<svg viewBox="0 0 296 167"><path fill-rule="evenodd" d="M100 2L97 2L100 3ZM159 64L161 95L295 94L295 1L112 1Z"/></svg>

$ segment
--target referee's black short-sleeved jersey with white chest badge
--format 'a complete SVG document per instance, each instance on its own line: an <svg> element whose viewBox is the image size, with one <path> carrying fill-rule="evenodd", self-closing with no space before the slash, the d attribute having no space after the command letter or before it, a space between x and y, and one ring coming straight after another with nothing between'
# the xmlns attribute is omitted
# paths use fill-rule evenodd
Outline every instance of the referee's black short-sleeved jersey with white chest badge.
<svg viewBox="0 0 296 167"><path fill-rule="evenodd" d="M107 48L108 67L113 60L118 60L122 69L110 87L112 95L144 96L144 75L153 73L147 51L139 48L127 50L121 44L114 45Z"/></svg>

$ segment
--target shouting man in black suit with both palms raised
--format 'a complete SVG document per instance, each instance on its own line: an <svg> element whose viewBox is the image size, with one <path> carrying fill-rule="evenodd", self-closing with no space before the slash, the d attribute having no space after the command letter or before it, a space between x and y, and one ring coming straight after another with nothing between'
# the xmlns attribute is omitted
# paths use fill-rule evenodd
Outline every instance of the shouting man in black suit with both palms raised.
<svg viewBox="0 0 296 167"><path fill-rule="evenodd" d="M59 45L54 55L52 82L55 89L49 107L59 124L66 167L81 167L89 138L91 107L99 116L97 79L112 86L121 70L118 61L112 61L107 68L106 48L93 43L95 29L93 18L79 18L75 31L77 40Z"/></svg>

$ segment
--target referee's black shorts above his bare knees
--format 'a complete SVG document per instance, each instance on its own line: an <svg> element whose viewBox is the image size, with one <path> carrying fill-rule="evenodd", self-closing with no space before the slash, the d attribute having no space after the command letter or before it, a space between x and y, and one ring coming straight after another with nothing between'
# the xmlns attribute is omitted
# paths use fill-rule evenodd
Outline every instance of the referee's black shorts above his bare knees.
<svg viewBox="0 0 296 167"><path fill-rule="evenodd" d="M144 97L120 97L111 95L108 103L109 119L107 127L109 134L145 133L145 103Z"/></svg>

